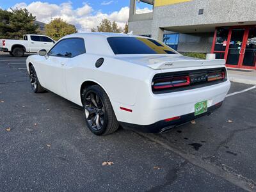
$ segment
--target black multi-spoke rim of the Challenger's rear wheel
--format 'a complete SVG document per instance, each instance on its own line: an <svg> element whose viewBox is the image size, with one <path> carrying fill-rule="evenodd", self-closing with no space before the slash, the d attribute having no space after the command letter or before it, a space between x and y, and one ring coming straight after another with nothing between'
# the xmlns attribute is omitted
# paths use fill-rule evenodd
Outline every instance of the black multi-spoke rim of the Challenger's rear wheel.
<svg viewBox="0 0 256 192"><path fill-rule="evenodd" d="M94 131L100 131L104 125L105 109L102 100L95 92L85 95L84 113L88 125Z"/></svg>

